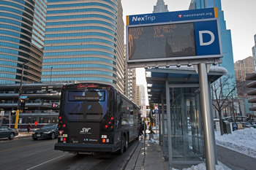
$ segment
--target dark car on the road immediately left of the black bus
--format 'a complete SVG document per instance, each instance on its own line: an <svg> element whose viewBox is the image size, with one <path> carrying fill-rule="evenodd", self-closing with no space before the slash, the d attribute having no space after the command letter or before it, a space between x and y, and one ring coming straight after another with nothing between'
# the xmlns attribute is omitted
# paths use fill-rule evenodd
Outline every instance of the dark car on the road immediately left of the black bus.
<svg viewBox="0 0 256 170"><path fill-rule="evenodd" d="M37 129L32 133L32 138L34 140L48 138L56 139L59 136L58 124L44 125L42 128Z"/></svg>

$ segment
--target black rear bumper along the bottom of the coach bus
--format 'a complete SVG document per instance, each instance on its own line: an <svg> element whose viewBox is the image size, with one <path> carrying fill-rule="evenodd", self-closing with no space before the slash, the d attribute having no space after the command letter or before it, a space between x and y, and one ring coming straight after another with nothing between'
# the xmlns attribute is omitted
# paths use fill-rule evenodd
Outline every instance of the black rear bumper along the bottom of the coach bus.
<svg viewBox="0 0 256 170"><path fill-rule="evenodd" d="M64 144L56 143L54 150L67 152L114 152L113 144Z"/></svg>

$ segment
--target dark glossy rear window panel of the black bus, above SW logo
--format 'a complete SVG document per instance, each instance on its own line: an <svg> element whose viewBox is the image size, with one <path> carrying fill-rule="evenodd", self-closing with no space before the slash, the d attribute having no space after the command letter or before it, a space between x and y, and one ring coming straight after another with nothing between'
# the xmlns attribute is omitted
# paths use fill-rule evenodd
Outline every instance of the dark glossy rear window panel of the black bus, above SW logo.
<svg viewBox="0 0 256 170"><path fill-rule="evenodd" d="M107 90L67 90L64 113L71 121L101 120L107 113Z"/></svg>

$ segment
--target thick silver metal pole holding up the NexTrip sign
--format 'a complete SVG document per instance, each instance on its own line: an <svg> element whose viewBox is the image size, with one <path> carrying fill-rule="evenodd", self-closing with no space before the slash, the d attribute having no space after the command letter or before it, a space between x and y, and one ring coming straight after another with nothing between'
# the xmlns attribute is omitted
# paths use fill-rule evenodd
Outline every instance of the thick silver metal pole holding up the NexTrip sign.
<svg viewBox="0 0 256 170"><path fill-rule="evenodd" d="M200 87L200 107L203 115L203 136L206 150L206 169L216 170L214 134L211 120L211 102L209 99L208 78L206 63L198 64L199 87Z"/></svg>

